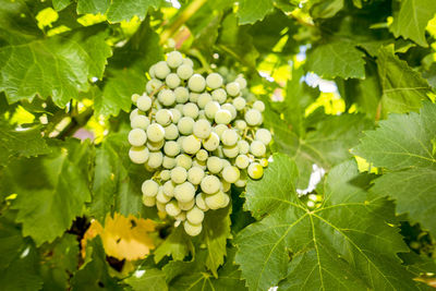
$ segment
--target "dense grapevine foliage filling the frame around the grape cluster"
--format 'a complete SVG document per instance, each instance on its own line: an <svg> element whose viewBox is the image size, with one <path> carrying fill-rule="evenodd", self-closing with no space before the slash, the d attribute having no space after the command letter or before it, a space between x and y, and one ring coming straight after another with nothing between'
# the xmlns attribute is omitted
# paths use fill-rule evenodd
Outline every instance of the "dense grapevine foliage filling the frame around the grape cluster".
<svg viewBox="0 0 436 291"><path fill-rule="evenodd" d="M0 286L428 288L435 13L433 0L1 0ZM201 73L244 73L274 133L265 178L195 239L142 206L152 173L128 157L131 95L170 38ZM314 207L298 195L313 165Z"/></svg>

